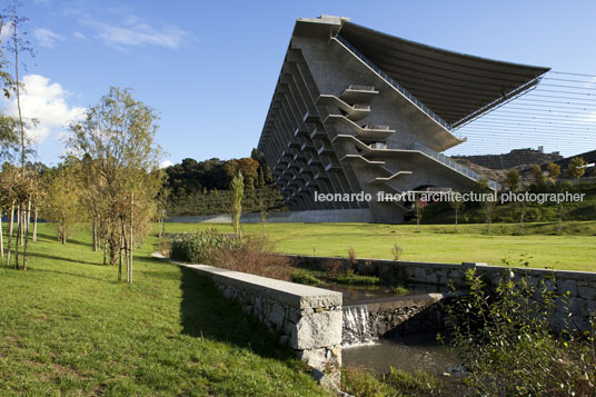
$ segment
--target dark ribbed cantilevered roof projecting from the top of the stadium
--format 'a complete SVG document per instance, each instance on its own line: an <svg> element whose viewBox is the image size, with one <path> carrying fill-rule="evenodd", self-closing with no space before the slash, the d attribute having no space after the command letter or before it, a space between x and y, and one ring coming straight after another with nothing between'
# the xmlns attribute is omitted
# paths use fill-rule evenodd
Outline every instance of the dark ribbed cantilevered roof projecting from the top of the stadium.
<svg viewBox="0 0 596 397"><path fill-rule="evenodd" d="M453 127L532 88L550 70L447 51L345 20L339 34Z"/></svg>

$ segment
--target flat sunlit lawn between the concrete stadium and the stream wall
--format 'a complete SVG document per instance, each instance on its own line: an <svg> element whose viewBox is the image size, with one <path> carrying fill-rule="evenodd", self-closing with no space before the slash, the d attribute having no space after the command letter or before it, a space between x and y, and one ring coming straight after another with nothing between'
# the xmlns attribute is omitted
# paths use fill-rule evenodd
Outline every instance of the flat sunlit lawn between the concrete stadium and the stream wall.
<svg viewBox="0 0 596 397"><path fill-rule="evenodd" d="M423 225L416 232L411 225L371 224L268 224L267 236L280 252L347 256L354 247L360 258L393 259L394 244L404 249L403 260L484 261L500 265L505 256L517 260L532 257L533 267L596 271L596 221L566 222L564 234L553 235L553 224L526 226L527 235L511 236L517 225L494 225L500 235L484 235L484 225ZM217 227L231 231L229 225L166 224L167 232L181 232ZM242 225L245 234L261 232L261 225Z"/></svg>

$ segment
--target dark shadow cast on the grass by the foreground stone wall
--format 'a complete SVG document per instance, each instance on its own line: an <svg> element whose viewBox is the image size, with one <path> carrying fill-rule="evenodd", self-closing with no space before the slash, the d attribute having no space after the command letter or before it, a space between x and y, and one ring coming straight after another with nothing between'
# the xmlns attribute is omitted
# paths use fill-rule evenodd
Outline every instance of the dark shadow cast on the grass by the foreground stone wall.
<svg viewBox="0 0 596 397"><path fill-rule="evenodd" d="M226 299L211 280L185 267L180 271L182 334L234 344L264 357L294 358L289 349L278 345L278 336Z"/></svg>

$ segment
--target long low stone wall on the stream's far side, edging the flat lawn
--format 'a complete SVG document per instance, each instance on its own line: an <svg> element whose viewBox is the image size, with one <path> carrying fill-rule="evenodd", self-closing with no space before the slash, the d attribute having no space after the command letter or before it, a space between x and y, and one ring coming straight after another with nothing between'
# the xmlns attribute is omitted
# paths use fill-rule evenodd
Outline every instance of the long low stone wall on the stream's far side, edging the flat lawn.
<svg viewBox="0 0 596 397"><path fill-rule="evenodd" d="M587 330L590 314L596 315L596 272L487 266L486 264L454 265L381 259L358 259L351 264L350 259L338 257L296 255L288 255L288 257L304 266L320 268L326 262L335 260L341 261L344 266L351 266L359 274L374 275L387 280L435 285L454 282L458 287L465 287L465 271L469 268L475 268L477 274L484 276L491 286L496 286L503 277L509 277L511 271L514 277L527 275L528 281L533 284L554 277L556 284L552 284L552 288L559 296L552 318L552 327L555 331L564 328ZM567 292L568 298L560 297Z"/></svg>

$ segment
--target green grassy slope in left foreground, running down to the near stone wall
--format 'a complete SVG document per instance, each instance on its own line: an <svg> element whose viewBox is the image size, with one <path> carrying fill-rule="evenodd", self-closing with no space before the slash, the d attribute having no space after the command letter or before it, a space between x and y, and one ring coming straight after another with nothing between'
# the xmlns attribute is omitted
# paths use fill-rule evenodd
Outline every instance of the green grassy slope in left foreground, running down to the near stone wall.
<svg viewBox="0 0 596 397"><path fill-rule="evenodd" d="M0 268L0 395L320 395L304 365L212 285L136 252L135 284L89 234L41 226L27 272Z"/></svg>

